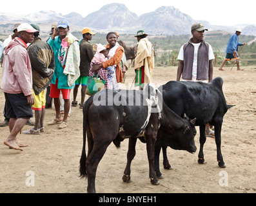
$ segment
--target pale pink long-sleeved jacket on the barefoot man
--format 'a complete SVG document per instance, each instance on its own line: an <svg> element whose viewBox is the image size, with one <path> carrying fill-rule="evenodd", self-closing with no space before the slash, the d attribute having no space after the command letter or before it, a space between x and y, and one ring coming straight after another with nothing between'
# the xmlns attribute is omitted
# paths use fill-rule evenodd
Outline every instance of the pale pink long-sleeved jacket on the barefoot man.
<svg viewBox="0 0 256 206"><path fill-rule="evenodd" d="M26 44L18 37L5 49L1 89L5 93L32 95L32 69Z"/></svg>

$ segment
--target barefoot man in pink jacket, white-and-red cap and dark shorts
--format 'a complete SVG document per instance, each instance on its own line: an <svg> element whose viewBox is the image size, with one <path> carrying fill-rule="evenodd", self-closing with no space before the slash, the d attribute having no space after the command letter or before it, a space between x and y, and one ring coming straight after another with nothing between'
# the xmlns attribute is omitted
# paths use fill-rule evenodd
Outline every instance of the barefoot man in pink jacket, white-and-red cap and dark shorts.
<svg viewBox="0 0 256 206"><path fill-rule="evenodd" d="M26 44L34 40L33 33L38 31L27 23L20 24L17 31L19 37L15 37L5 49L1 89L5 93L6 116L10 118L10 135L4 144L22 151L21 147L28 145L19 143L17 134L33 117L31 106L34 104L32 70Z"/></svg>

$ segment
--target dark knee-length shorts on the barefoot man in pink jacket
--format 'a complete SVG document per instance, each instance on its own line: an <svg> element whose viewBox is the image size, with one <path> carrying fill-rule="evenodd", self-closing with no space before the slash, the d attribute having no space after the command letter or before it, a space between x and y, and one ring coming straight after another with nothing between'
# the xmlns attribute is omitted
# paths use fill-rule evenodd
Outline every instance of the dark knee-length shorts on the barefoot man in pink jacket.
<svg viewBox="0 0 256 206"><path fill-rule="evenodd" d="M31 118L32 107L23 93L5 93L6 118Z"/></svg>

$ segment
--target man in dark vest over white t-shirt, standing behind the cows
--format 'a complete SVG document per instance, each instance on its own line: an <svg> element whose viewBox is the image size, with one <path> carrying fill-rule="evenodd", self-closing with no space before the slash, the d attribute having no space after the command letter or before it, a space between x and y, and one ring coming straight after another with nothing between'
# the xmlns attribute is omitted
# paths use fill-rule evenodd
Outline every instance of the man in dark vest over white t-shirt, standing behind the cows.
<svg viewBox="0 0 256 206"><path fill-rule="evenodd" d="M211 82L213 78L212 46L204 41L204 28L202 24L193 24L192 39L181 46L179 52L179 66L177 70L177 81L182 79L194 82ZM206 136L214 137L214 131L206 125Z"/></svg>

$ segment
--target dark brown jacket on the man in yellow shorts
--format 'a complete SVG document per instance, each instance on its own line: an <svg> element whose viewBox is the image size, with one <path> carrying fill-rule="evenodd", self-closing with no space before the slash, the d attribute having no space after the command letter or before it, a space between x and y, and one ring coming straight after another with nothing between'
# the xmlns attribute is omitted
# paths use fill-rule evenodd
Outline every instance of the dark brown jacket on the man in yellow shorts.
<svg viewBox="0 0 256 206"><path fill-rule="evenodd" d="M35 95L39 95L50 85L54 75L54 51L49 44L37 37L28 46L28 55L32 66L33 89Z"/></svg>

